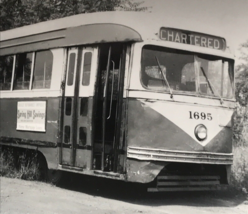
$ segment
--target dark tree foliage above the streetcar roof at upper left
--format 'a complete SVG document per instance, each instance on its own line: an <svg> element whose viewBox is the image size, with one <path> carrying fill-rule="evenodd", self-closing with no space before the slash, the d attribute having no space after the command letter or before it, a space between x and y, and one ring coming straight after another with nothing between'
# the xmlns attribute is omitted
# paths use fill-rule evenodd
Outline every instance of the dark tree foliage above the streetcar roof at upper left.
<svg viewBox="0 0 248 214"><path fill-rule="evenodd" d="M135 0L0 0L0 31L80 13L145 11Z"/></svg>

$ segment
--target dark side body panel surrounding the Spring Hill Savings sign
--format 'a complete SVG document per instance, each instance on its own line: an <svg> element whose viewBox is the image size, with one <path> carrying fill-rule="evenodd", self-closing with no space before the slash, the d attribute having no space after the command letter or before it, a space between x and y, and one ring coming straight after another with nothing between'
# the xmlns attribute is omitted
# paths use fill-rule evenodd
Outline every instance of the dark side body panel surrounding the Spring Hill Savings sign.
<svg viewBox="0 0 248 214"><path fill-rule="evenodd" d="M59 131L59 103L61 98L13 98L0 99L0 137L9 139L20 139L20 143L28 142L40 145L44 142L47 146L56 146ZM46 102L46 118L45 132L36 131L18 131L17 126L17 103L26 101L45 101Z"/></svg>

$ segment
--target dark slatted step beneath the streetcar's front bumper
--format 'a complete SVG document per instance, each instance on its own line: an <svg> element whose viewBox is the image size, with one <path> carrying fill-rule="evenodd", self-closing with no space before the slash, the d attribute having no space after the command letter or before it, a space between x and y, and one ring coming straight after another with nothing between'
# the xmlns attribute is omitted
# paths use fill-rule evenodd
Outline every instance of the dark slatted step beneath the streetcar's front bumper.
<svg viewBox="0 0 248 214"><path fill-rule="evenodd" d="M161 175L157 177L157 187L148 188L148 192L206 191L226 188L227 185L220 184L220 176Z"/></svg>

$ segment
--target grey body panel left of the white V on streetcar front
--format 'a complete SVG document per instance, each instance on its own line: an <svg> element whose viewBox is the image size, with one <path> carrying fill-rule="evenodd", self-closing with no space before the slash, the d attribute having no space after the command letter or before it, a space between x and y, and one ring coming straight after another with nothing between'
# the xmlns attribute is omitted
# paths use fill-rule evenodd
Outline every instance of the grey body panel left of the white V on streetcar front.
<svg viewBox="0 0 248 214"><path fill-rule="evenodd" d="M127 145L167 150L203 151L203 146L155 110L129 99Z"/></svg>

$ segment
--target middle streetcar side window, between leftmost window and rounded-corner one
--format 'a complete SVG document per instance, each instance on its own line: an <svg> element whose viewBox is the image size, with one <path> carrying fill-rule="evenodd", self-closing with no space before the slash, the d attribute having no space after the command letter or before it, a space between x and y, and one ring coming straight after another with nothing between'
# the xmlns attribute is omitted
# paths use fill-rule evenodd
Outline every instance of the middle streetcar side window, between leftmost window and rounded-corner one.
<svg viewBox="0 0 248 214"><path fill-rule="evenodd" d="M22 53L16 55L14 90L29 89L32 69L32 53Z"/></svg>

